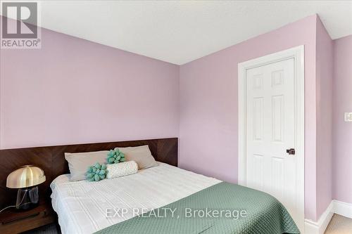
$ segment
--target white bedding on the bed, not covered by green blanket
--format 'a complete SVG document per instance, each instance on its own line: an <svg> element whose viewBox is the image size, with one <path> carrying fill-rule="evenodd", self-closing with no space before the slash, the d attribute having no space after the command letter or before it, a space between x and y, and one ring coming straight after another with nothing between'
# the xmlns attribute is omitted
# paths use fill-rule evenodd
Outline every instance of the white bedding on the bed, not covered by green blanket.
<svg viewBox="0 0 352 234"><path fill-rule="evenodd" d="M58 176L51 183L51 198L62 233L94 233L133 216L129 212L107 218L107 209L149 211L221 182L168 164L158 164L139 170L137 174L99 182L70 182L69 174Z"/></svg>

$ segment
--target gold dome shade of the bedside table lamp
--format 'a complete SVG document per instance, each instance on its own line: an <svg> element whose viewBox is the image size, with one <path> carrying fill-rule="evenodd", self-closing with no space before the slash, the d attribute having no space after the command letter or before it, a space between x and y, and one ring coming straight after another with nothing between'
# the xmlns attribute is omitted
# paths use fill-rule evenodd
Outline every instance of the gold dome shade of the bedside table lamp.
<svg viewBox="0 0 352 234"><path fill-rule="evenodd" d="M7 176L7 188L28 188L46 180L44 171L33 165L25 165Z"/></svg>

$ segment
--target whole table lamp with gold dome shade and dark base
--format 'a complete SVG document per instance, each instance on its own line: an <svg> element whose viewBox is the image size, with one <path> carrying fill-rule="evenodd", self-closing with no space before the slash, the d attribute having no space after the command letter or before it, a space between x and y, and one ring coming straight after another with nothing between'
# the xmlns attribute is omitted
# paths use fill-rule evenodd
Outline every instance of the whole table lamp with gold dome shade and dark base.
<svg viewBox="0 0 352 234"><path fill-rule="evenodd" d="M7 176L6 187L18 188L16 209L30 209L39 204L38 186L46 180L44 171L34 165L25 165Z"/></svg>

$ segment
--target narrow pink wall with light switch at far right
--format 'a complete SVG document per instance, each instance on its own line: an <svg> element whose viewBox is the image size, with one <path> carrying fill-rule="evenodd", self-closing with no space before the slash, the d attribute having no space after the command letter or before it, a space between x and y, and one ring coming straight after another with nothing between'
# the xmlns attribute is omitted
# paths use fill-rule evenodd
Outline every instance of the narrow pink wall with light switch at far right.
<svg viewBox="0 0 352 234"><path fill-rule="evenodd" d="M352 203L352 35L334 40L333 198Z"/></svg>

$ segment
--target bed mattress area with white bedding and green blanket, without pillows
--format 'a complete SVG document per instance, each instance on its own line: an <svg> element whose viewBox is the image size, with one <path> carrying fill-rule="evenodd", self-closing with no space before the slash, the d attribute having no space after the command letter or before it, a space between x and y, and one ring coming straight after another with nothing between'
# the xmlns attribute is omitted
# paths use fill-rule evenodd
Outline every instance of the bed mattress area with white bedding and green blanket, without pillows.
<svg viewBox="0 0 352 234"><path fill-rule="evenodd" d="M58 176L51 183L53 208L64 234L98 231L131 234L299 233L286 209L274 197L161 162L157 167L139 170L137 174L99 182L70 182L69 176ZM229 189L231 191L226 192ZM213 192L210 200L204 198L209 194L208 190L210 194ZM233 200L234 203L221 200L220 196L226 193L230 197L224 200ZM203 204L198 202L202 200ZM211 203L214 200L217 200L216 207ZM165 209L158 217L142 216L160 207L179 209L180 212L175 212L179 217L171 216L171 212L166 217ZM241 219L238 212L232 217L190 216L192 212L189 212L187 219L180 217L186 207L197 211L199 208L204 211L208 208L218 211L231 208L232 211L249 214Z"/></svg>

